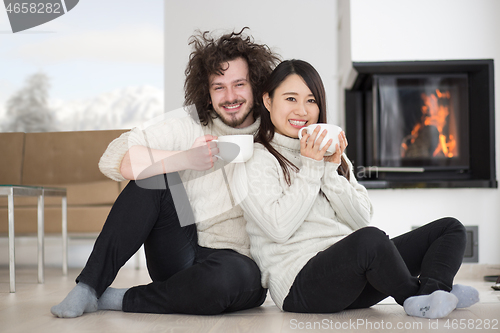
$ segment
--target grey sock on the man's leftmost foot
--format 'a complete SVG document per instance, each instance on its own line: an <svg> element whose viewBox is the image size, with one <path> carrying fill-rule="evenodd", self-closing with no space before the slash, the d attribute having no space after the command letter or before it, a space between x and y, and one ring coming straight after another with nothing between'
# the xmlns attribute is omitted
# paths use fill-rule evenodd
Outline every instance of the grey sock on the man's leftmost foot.
<svg viewBox="0 0 500 333"><path fill-rule="evenodd" d="M59 318L75 318L85 312L97 311L97 297L94 288L78 283L63 301L54 305L50 312Z"/></svg>

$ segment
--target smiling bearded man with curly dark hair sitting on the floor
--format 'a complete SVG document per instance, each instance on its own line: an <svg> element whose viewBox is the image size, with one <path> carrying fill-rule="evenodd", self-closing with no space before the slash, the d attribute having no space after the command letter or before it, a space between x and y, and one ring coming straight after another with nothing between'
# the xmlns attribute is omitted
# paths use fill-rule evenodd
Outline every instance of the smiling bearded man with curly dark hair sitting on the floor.
<svg viewBox="0 0 500 333"><path fill-rule="evenodd" d="M185 106L190 116L134 128L108 146L99 168L130 182L114 203L77 285L51 312L219 314L260 306L266 297L250 258L243 211L218 160L220 135L254 134L260 86L279 58L240 32L190 39ZM109 287L144 244L152 283Z"/></svg>

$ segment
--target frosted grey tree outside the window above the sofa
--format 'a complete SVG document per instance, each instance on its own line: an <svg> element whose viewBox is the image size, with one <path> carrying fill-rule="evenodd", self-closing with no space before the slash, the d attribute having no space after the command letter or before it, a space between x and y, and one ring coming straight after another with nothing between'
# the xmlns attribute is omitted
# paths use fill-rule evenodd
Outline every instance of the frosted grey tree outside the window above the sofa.
<svg viewBox="0 0 500 333"><path fill-rule="evenodd" d="M36 73L6 103L6 132L49 132L55 130L54 116L48 106L49 77Z"/></svg>

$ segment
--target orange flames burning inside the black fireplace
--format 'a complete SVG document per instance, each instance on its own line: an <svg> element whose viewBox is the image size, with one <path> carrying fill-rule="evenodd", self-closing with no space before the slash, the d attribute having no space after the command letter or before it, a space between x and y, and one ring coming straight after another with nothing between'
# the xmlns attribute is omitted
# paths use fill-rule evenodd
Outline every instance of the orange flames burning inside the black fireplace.
<svg viewBox="0 0 500 333"><path fill-rule="evenodd" d="M420 130L424 126L434 126L439 132L439 143L436 146L432 156L436 157L439 155L444 155L445 157L451 158L456 156L457 142L455 140L455 136L452 132L454 132L453 126L449 126L448 132L444 133L443 129L447 124L448 116L450 115L450 103L449 100L451 98L450 92L441 92L439 89L436 89L435 94L431 93L426 95L425 93L421 94L424 105L422 106L422 118L421 122L417 123L409 135L410 145L415 143L415 140L418 138L420 134ZM405 140L401 144L402 149L402 157L405 157L406 151L409 148L407 144L408 141Z"/></svg>

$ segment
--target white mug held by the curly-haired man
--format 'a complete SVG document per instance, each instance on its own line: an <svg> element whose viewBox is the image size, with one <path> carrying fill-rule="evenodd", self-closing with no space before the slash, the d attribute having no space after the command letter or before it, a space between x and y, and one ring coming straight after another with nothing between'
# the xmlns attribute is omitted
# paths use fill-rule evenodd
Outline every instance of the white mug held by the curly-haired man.
<svg viewBox="0 0 500 333"><path fill-rule="evenodd" d="M217 140L219 155L215 155L229 163L244 163L253 155L253 135L222 135Z"/></svg>

